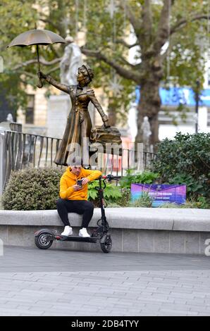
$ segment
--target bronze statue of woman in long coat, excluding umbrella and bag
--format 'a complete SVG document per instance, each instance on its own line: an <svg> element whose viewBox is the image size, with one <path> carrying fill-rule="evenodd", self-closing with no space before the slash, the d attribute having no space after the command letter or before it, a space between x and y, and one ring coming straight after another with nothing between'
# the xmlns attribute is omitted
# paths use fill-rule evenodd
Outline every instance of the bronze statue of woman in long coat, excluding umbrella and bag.
<svg viewBox="0 0 210 331"><path fill-rule="evenodd" d="M92 130L92 122L89 116L87 106L89 101L94 104L101 115L104 127L109 127L108 117L104 113L99 101L94 94L94 90L88 88L94 75L88 65L82 65L78 68L78 85L64 85L56 82L50 75L44 75L41 71L38 73L39 79L46 80L49 84L61 89L70 95L72 108L67 118L66 129L63 134L62 142L58 148L54 163L59 165L68 165L69 154L84 156L85 152L89 156L89 137ZM87 144L85 144L87 142ZM79 146L80 151L75 151Z"/></svg>

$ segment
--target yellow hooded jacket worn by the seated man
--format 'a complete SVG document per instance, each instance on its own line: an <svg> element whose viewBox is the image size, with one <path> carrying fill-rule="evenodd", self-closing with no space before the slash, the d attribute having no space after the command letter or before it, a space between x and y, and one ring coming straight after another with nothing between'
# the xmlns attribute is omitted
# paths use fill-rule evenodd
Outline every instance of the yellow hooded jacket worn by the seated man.
<svg viewBox="0 0 210 331"><path fill-rule="evenodd" d="M60 180L60 196L61 199L66 200L87 200L87 184L82 185L82 189L79 191L74 191L73 185L77 184L77 180L81 180L83 177L87 177L89 182L96 180L101 176L101 171L99 170L87 170L82 168L80 175L74 175L68 167L66 172L63 173Z"/></svg>

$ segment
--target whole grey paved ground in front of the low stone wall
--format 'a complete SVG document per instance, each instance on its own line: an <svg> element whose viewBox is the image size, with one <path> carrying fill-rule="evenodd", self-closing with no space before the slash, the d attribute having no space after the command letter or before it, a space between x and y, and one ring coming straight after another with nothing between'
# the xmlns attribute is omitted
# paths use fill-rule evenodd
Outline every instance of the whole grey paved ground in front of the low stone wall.
<svg viewBox="0 0 210 331"><path fill-rule="evenodd" d="M0 316L209 316L210 257L6 246Z"/></svg>

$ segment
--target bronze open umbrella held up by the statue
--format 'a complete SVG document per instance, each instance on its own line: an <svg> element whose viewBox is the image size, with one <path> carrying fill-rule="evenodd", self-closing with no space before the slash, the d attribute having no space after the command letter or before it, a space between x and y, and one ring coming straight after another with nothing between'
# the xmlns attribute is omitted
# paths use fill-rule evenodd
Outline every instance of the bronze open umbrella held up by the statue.
<svg viewBox="0 0 210 331"><path fill-rule="evenodd" d="M38 45L49 45L49 44L56 44L56 43L62 43L66 44L65 40L57 35L54 32L51 32L49 30L29 30L26 32L21 33L18 35L15 39L11 41L10 44L8 44L7 47L12 46L37 46L37 61L38 61L38 68L40 71L40 63L39 63L39 46ZM39 80L39 84L37 87L42 87L42 80Z"/></svg>

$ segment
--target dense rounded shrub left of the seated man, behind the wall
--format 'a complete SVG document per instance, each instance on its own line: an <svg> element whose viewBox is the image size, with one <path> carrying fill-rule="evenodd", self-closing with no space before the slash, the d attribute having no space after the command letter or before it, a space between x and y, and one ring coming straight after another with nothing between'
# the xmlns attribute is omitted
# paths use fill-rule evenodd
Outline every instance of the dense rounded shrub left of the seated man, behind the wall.
<svg viewBox="0 0 210 331"><path fill-rule="evenodd" d="M56 168L27 168L11 173L1 200L4 209L56 209L61 175L63 170Z"/></svg>

